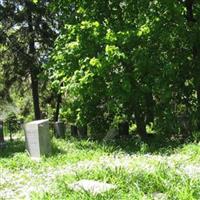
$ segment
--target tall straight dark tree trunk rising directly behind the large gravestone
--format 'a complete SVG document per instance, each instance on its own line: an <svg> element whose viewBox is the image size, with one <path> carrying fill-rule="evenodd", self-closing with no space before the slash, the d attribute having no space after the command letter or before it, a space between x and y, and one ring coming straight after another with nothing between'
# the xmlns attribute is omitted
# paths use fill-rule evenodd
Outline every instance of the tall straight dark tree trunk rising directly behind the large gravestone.
<svg viewBox="0 0 200 200"><path fill-rule="evenodd" d="M38 69L35 62L35 40L34 40L34 30L33 30L33 21L32 21L32 6L33 3L30 1L26 1L27 7L27 17L28 17L28 33L29 33L29 69L31 75L31 89L32 89L32 96L33 96L33 106L34 106L34 113L35 119L41 119L41 112L40 112L40 104L39 104L39 87L38 87Z"/></svg>

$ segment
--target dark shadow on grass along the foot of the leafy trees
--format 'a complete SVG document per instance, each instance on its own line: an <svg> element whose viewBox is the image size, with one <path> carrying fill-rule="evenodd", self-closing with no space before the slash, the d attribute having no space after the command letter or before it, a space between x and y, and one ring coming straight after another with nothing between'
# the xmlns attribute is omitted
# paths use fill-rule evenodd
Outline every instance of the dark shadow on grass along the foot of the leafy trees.
<svg viewBox="0 0 200 200"><path fill-rule="evenodd" d="M98 150L104 148L107 153L123 152L128 154L165 154L170 155L177 150L177 148L183 147L184 142L175 139L170 140L162 137L150 137L147 142L141 141L141 139L135 135L128 137L116 138L110 141L102 140L81 140L71 139L75 142L77 149ZM92 141L87 142L87 141ZM94 143L93 143L94 142Z"/></svg>

